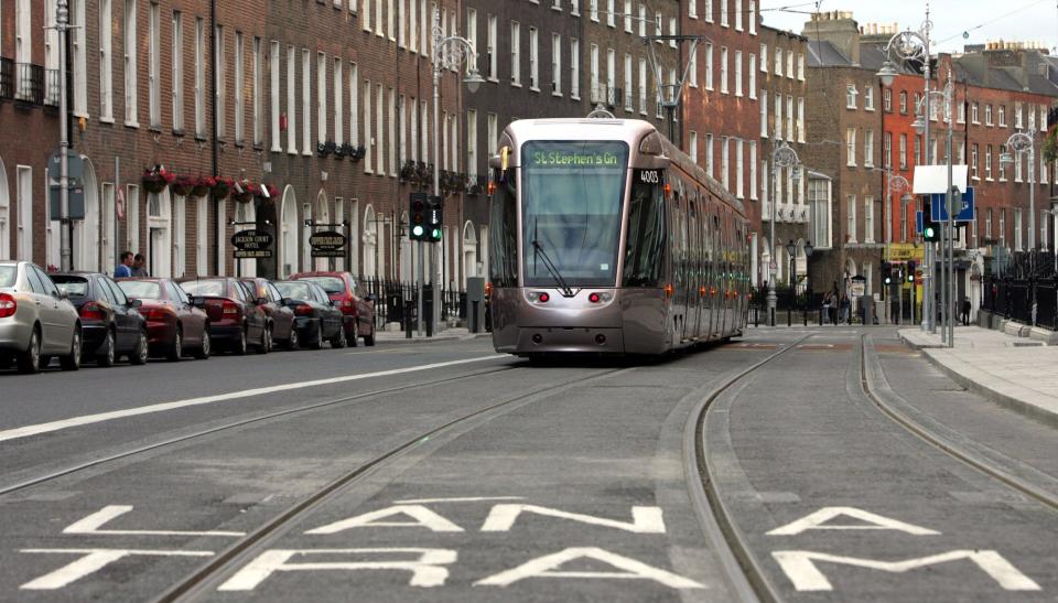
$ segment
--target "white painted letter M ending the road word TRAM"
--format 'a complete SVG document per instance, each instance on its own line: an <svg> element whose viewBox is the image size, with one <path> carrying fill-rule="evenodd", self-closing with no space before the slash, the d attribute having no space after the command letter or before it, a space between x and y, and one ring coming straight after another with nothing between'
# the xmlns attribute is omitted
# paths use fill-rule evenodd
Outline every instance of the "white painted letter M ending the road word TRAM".
<svg viewBox="0 0 1058 603"><path fill-rule="evenodd" d="M937 563L947 563L949 561L969 560L984 573L995 580L1001 588L1007 591L1038 591L1039 585L1033 582L1027 575L1019 572L1006 559L994 550L953 550L940 554L921 557L917 559L907 559L905 561L877 561L874 559L860 559L856 557L842 557L829 554L825 552L787 550L773 551L771 556L778 561L782 571L794 583L798 591L831 591L833 586L823 572L816 567L816 561L827 561L830 563L842 563L845 566L855 566L857 568L867 568L872 570L882 570L893 573L904 573L908 570L936 566Z"/></svg>

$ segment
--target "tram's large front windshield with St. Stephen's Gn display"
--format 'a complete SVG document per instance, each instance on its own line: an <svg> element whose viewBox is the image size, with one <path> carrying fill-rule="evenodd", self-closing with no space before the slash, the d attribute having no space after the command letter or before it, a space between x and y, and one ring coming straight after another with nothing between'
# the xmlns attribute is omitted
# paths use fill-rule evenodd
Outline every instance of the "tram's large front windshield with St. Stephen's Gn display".
<svg viewBox="0 0 1058 603"><path fill-rule="evenodd" d="M616 284L628 146L527 142L521 165L523 284Z"/></svg>

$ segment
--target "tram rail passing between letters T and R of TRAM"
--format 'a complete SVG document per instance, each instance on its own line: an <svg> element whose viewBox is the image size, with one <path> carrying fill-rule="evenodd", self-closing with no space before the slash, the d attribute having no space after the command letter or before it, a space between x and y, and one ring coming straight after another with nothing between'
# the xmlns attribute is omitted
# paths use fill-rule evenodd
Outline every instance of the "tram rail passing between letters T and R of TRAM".
<svg viewBox="0 0 1058 603"><path fill-rule="evenodd" d="M566 389L584 386L615 374L628 373L631 370L635 370L635 367L603 369L589 377L579 375L571 379L565 379L558 384L540 387L527 394L512 396L503 401L466 412L441 426L424 429L413 438L410 438L400 444L393 445L374 459L350 469L337 478L332 480L330 483L319 488L313 494L304 497L299 503L289 507L284 512L273 516L257 529L249 531L237 542L212 557L208 562L201 566L176 584L170 586L154 601L156 603L169 603L175 601L194 600L197 595L204 595L210 590L212 586L216 584L218 580L224 578L229 569L237 567L244 560L259 552L261 548L267 547L276 539L280 538L285 532L285 528L293 526L295 523L300 521L315 509L327 504L333 498L345 494L349 488L355 487L361 477L374 473L376 470L385 466L387 463L392 462L403 454L411 452L415 448L425 444L431 439L455 432L456 428L467 427L475 420L485 422L494 416L499 416L504 412L520 408L521 406L547 399ZM498 370L493 373L498 373ZM481 375L482 374L478 374L477 376ZM471 429L474 429L474 427L476 426L469 426Z"/></svg>

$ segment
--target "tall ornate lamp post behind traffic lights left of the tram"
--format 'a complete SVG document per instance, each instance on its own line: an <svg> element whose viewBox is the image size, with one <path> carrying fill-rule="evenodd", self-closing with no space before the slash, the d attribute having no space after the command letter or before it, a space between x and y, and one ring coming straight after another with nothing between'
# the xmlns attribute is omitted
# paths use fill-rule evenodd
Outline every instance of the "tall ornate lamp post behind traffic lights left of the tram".
<svg viewBox="0 0 1058 603"><path fill-rule="evenodd" d="M450 35L445 37L444 30L441 29L441 12L440 9L433 10L433 194L434 196L441 195L441 136L439 130L441 128L441 115L440 115L440 105L441 105L441 74L444 69L455 69L458 68L464 61L469 63L469 69L467 71L466 77L463 78L463 83L466 84L466 89L472 94L477 91L481 85L485 82L482 75L477 72L477 50L474 47L474 43L469 40L458 36ZM433 252L434 259L433 262L433 324L440 327L441 321L441 290L439 289L439 283L441 281L441 274L443 274L441 261L439 259L440 255L438 249ZM422 256L423 250L420 244L419 247L419 282L423 282L422 274ZM421 291L421 289L420 289ZM422 330L422 293L419 294L419 330Z"/></svg>

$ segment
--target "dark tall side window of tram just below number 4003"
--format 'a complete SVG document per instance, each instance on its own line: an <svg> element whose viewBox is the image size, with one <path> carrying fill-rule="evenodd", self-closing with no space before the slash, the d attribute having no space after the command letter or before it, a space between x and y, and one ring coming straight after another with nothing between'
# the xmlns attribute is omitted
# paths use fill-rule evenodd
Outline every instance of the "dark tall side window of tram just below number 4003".
<svg viewBox="0 0 1058 603"><path fill-rule="evenodd" d="M628 202L625 287L660 287L665 266L665 191L656 170L637 170ZM645 175L646 174L646 175Z"/></svg>

